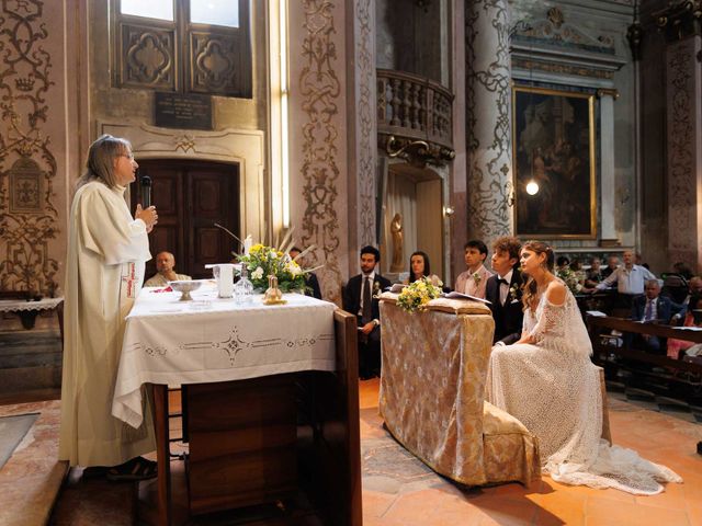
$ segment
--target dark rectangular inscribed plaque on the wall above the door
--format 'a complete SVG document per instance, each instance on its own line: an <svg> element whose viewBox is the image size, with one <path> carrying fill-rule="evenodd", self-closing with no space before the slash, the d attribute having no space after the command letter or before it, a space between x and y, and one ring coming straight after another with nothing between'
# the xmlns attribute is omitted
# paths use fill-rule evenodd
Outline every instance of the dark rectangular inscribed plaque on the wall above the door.
<svg viewBox="0 0 702 526"><path fill-rule="evenodd" d="M156 126L163 128L212 129L212 98L156 92Z"/></svg>

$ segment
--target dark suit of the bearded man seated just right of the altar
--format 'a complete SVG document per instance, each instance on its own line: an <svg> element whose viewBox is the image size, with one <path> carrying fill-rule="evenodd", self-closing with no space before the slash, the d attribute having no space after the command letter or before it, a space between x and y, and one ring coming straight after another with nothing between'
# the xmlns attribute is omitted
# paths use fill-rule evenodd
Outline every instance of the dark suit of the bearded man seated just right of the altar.
<svg viewBox="0 0 702 526"><path fill-rule="evenodd" d="M380 293L390 286L390 282L381 276L377 272L373 281L372 296L377 296ZM361 319L361 295L363 294L363 274L353 276L347 283L343 290L343 310L350 312L356 317L356 324L363 325ZM373 298L372 302L372 320L381 319L381 309L377 298ZM375 327L371 333L366 336L359 331L359 376L362 378L370 378L377 376L381 370L381 328Z"/></svg>

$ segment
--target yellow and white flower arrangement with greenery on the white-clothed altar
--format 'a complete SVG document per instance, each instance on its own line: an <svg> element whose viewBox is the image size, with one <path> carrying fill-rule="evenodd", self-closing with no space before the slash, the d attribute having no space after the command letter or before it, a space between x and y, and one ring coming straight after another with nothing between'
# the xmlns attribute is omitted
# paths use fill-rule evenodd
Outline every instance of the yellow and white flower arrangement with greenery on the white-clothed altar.
<svg viewBox="0 0 702 526"><path fill-rule="evenodd" d="M257 293L264 293L268 289L268 276L275 276L278 278L278 288L283 293L298 291L303 294L309 288L307 286L307 276L317 268L321 268L321 266L303 268L297 263L297 260L314 250L315 245L308 247L295 258L290 256L288 252L293 247L293 241L291 240L292 228L279 244L279 248L275 248L263 243L253 244L251 236L247 236L241 241L234 232L222 225L215 224L215 227L220 228L241 244L244 253L233 252L233 255L236 256L239 263L246 265L249 279L253 285L253 290Z"/></svg>

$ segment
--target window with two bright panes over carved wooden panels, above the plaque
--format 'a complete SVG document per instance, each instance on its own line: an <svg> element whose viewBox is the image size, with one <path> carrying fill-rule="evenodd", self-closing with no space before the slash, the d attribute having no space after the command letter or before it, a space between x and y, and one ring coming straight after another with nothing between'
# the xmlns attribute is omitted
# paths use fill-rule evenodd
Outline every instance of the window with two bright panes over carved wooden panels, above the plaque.
<svg viewBox="0 0 702 526"><path fill-rule="evenodd" d="M251 98L249 0L114 0L114 83Z"/></svg>

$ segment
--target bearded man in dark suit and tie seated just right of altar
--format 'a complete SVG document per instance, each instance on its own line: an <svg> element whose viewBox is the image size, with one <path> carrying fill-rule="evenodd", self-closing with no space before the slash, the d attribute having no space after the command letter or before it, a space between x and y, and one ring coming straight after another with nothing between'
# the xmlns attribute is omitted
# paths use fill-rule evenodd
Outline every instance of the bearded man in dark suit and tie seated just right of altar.
<svg viewBox="0 0 702 526"><path fill-rule="evenodd" d="M377 296L390 282L375 272L381 252L374 247L361 249L361 274L347 283L343 310L356 316L359 325L359 376L362 380L381 374L381 311Z"/></svg>

